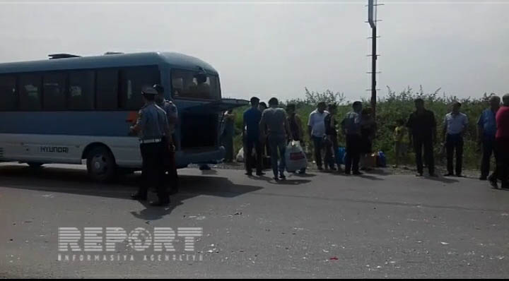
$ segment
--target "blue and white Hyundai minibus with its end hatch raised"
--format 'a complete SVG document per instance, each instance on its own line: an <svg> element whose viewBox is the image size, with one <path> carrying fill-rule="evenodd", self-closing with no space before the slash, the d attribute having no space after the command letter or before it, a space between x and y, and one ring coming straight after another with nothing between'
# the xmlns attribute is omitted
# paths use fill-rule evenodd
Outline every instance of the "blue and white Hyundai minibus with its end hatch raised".
<svg viewBox="0 0 509 281"><path fill-rule="evenodd" d="M141 169L129 126L143 106L141 88L155 83L179 111L177 166L221 162L221 113L247 101L222 99L218 72L206 62L166 52L55 54L0 64L0 161L86 162L97 181Z"/></svg>

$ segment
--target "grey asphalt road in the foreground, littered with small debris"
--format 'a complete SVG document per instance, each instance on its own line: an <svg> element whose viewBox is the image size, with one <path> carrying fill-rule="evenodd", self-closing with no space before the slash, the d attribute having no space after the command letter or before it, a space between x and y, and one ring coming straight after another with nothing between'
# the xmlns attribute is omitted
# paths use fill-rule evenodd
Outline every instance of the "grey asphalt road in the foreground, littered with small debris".
<svg viewBox="0 0 509 281"><path fill-rule="evenodd" d="M102 185L81 166L1 164L0 277L509 277L509 192L477 179L312 172L276 184L238 170L180 174L182 192L153 208L129 200L136 175ZM203 235L194 252L182 239L175 252L122 242L112 261L86 261L90 252L59 251L59 227Z"/></svg>

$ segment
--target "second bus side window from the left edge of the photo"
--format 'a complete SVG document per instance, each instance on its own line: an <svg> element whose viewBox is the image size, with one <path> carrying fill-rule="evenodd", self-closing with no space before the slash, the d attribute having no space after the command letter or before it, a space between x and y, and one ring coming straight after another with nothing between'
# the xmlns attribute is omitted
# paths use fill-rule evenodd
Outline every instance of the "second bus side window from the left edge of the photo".
<svg viewBox="0 0 509 281"><path fill-rule="evenodd" d="M20 109L22 111L41 110L41 76L23 74L19 76Z"/></svg>

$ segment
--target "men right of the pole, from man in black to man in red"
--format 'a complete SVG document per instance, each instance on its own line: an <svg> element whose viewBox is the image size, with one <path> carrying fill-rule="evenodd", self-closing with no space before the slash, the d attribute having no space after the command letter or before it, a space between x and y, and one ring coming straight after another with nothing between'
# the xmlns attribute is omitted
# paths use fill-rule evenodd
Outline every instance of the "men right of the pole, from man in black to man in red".
<svg viewBox="0 0 509 281"><path fill-rule="evenodd" d="M481 177L489 179L493 188L498 188L498 179L502 181L502 188L508 189L509 167L509 94L501 98L490 97L490 108L485 109L477 119L477 143L482 148ZM423 176L423 159L428 165L429 174L436 177L433 147L437 143L435 114L424 107L422 99L415 100L416 111L413 112L406 126L409 128L409 141L414 146L417 164L417 177ZM452 110L443 120L443 145L447 153L447 174L445 177L456 175L462 177L464 133L467 131L468 116L460 112L462 104L454 102ZM491 155L495 155L496 169L490 172ZM456 161L455 161L456 157Z"/></svg>

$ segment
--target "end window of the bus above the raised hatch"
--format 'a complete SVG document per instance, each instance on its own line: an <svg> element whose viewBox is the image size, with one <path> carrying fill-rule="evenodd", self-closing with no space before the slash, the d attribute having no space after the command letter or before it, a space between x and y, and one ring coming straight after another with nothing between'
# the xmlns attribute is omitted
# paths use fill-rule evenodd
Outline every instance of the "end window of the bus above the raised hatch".
<svg viewBox="0 0 509 281"><path fill-rule="evenodd" d="M221 98L218 76L199 71L174 70L171 73L174 98L218 100Z"/></svg>

